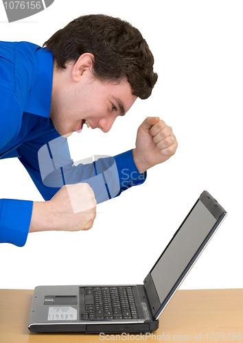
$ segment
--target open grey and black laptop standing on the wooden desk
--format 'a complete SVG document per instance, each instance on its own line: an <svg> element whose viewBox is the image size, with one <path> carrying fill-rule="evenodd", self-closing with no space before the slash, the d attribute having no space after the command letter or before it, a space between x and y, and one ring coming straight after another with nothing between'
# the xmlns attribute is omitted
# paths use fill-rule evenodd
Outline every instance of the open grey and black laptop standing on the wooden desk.
<svg viewBox="0 0 243 343"><path fill-rule="evenodd" d="M60 285L34 289L34 332L150 333L227 215L203 191L141 285ZM159 255L159 252L158 252Z"/></svg>

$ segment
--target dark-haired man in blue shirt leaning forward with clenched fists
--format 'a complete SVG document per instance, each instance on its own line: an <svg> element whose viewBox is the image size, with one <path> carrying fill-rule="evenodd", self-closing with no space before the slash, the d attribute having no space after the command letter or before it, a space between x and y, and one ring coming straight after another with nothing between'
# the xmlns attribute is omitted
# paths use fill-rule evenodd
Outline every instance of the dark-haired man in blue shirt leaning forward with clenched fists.
<svg viewBox="0 0 243 343"><path fill-rule="evenodd" d="M143 183L177 148L172 128L148 117L135 149L73 165L65 137L84 123L108 132L137 97L147 99L154 59L135 27L100 14L72 21L43 46L0 43L0 158L18 157L46 200L0 200L0 242L16 246L28 232L91 228L96 200Z"/></svg>

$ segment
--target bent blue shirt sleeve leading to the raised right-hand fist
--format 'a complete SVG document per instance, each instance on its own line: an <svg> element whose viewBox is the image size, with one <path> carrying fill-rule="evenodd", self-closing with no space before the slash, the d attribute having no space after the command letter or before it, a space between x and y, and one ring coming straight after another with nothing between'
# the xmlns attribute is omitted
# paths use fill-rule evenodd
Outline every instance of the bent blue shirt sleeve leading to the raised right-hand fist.
<svg viewBox="0 0 243 343"><path fill-rule="evenodd" d="M115 157L91 156L73 162L67 139L51 137L54 132L23 143L18 149L21 163L45 200L50 200L63 185L86 182L99 204L146 180L146 173L137 170L132 150Z"/></svg>

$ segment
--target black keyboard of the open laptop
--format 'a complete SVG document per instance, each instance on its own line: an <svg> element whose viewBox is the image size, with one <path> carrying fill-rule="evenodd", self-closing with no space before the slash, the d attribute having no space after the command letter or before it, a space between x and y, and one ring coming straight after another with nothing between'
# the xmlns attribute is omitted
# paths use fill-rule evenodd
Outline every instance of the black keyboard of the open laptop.
<svg viewBox="0 0 243 343"><path fill-rule="evenodd" d="M132 287L84 287L82 320L139 318Z"/></svg>

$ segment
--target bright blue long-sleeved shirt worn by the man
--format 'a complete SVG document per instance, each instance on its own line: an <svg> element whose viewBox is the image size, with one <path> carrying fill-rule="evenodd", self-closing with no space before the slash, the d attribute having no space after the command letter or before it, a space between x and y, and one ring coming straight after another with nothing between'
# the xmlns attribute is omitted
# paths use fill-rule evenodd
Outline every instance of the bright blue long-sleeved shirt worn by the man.
<svg viewBox="0 0 243 343"><path fill-rule="evenodd" d="M65 184L88 182L97 203L146 180L132 150L91 163L73 163L67 139L49 118L53 56L32 43L0 42L0 159L17 157L45 200ZM1 161L0 161L1 163ZM23 246L33 202L0 200L0 242Z"/></svg>

